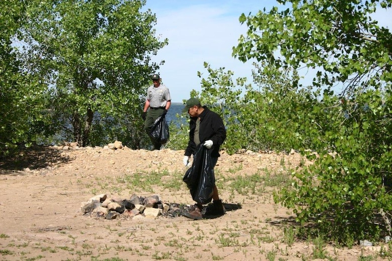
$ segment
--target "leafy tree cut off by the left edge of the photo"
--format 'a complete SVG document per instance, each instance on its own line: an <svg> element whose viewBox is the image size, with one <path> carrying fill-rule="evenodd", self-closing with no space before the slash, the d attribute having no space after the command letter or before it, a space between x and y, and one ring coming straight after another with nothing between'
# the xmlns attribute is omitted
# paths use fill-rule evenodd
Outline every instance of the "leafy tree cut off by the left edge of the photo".
<svg viewBox="0 0 392 261"><path fill-rule="evenodd" d="M25 22L25 1L0 4L0 155L17 144L29 146L32 125L40 121L42 87L29 71L20 69L14 39Z"/></svg>

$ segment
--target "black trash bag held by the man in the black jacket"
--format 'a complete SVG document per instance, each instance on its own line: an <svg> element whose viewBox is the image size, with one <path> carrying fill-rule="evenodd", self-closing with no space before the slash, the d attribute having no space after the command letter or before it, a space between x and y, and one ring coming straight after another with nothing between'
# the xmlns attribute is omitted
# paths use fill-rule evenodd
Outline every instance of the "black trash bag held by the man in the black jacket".
<svg viewBox="0 0 392 261"><path fill-rule="evenodd" d="M193 156L192 166L185 172L182 181L190 191L192 199L202 204L212 200L215 175L211 168L210 150L200 144Z"/></svg>

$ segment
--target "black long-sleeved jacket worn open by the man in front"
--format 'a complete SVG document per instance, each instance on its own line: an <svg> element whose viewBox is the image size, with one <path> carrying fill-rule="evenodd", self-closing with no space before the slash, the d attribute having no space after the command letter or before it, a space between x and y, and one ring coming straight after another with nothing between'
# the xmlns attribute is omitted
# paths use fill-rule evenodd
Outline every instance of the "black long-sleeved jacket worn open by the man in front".
<svg viewBox="0 0 392 261"><path fill-rule="evenodd" d="M200 142L213 141L213 147L211 148L211 157L219 157L219 147L223 144L226 139L226 128L223 124L222 118L210 110L206 106L203 106L204 111L199 115L200 117ZM196 144L193 142L194 129L196 128L196 120L198 117L190 117L189 122L189 142L188 147L185 149L185 156L189 156L196 152Z"/></svg>

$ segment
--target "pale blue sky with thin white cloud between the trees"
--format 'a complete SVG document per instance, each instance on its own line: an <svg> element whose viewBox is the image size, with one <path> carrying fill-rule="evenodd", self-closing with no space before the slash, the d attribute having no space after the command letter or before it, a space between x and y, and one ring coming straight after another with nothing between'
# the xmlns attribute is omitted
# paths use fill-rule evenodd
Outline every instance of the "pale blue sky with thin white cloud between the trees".
<svg viewBox="0 0 392 261"><path fill-rule="evenodd" d="M156 35L169 42L153 61L165 61L157 73L169 88L171 101L182 102L189 98L192 89L202 90L202 78L197 72L208 77L204 62L213 69L225 67L233 71L234 79L251 80L252 63L232 57L233 46L237 46L239 37L246 35L247 30L239 17L264 8L269 11L273 6L278 4L272 0L147 0L144 8L157 18ZM392 19L387 11L377 12L373 18L391 30Z"/></svg>

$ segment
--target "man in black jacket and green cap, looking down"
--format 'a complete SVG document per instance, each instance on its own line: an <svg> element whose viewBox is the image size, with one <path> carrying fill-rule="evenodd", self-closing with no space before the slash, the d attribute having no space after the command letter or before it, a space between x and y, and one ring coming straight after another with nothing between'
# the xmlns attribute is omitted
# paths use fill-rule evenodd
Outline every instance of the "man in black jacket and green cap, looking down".
<svg viewBox="0 0 392 261"><path fill-rule="evenodd" d="M226 128L222 118L206 106L202 106L198 98L190 98L186 101L182 112L188 112L190 115L189 122L189 142L185 149L183 163L185 166L189 163L189 157L196 151L199 144L203 144L210 150L211 169L214 173L214 167L218 161L219 147L226 139ZM184 213L185 217L191 219L202 219L203 204L197 202L193 209ZM222 200L219 199L217 186L214 187L213 205L207 209L205 215L223 215L226 209Z"/></svg>

